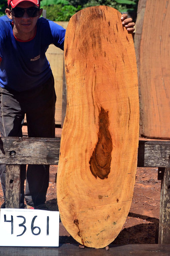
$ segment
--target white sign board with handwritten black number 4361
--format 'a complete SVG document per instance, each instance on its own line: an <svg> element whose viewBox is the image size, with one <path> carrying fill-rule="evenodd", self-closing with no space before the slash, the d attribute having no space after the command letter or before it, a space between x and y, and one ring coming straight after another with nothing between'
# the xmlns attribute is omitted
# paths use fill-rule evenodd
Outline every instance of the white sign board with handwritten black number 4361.
<svg viewBox="0 0 170 256"><path fill-rule="evenodd" d="M59 212L0 210L0 246L58 246Z"/></svg>

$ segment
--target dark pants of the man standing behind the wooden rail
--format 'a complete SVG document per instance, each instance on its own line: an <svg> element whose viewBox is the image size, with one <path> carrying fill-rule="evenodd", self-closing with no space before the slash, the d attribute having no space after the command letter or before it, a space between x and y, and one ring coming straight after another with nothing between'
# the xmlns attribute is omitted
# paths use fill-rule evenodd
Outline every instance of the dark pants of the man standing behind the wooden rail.
<svg viewBox="0 0 170 256"><path fill-rule="evenodd" d="M55 137L54 79L51 77L36 89L24 92L5 90L0 87L0 131L4 137L22 137L22 124L26 114L28 136L40 138ZM41 151L41 149L40 149ZM6 166L0 164L1 185L5 198ZM26 178L25 200L30 206L44 204L49 183L49 165L21 165L21 203L24 208L24 181Z"/></svg>

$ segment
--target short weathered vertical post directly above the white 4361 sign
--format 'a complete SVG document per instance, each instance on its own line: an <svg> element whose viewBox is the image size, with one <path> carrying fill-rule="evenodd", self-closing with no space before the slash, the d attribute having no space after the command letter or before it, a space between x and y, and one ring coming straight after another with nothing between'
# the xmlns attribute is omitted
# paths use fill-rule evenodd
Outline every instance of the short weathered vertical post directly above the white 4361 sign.
<svg viewBox="0 0 170 256"><path fill-rule="evenodd" d="M20 208L20 165L6 166L6 208Z"/></svg>

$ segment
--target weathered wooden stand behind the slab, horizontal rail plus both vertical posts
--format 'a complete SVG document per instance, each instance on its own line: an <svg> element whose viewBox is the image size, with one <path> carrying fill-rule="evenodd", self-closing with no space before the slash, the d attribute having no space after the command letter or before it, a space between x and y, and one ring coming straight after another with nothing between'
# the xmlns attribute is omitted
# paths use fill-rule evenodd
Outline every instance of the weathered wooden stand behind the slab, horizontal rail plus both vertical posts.
<svg viewBox="0 0 170 256"><path fill-rule="evenodd" d="M6 208L20 207L20 165L57 165L60 138L0 138L0 164L6 164ZM162 180L159 244L170 244L170 141L139 140L138 167L158 167Z"/></svg>

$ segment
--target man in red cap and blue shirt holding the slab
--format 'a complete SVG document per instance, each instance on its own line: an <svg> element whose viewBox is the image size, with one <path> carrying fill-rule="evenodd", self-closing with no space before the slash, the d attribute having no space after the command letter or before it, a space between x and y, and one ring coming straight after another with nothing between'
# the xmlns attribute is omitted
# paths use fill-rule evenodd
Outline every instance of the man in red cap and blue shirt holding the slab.
<svg viewBox="0 0 170 256"><path fill-rule="evenodd" d="M22 137L26 114L29 137L55 136L55 90L45 52L50 44L63 49L65 29L40 18L40 0L8 0L6 16L0 17L0 131L1 136ZM129 32L134 23L121 17ZM5 198L5 165L0 165ZM21 166L21 201L28 208L47 209L48 165ZM5 202L1 206L5 208Z"/></svg>

